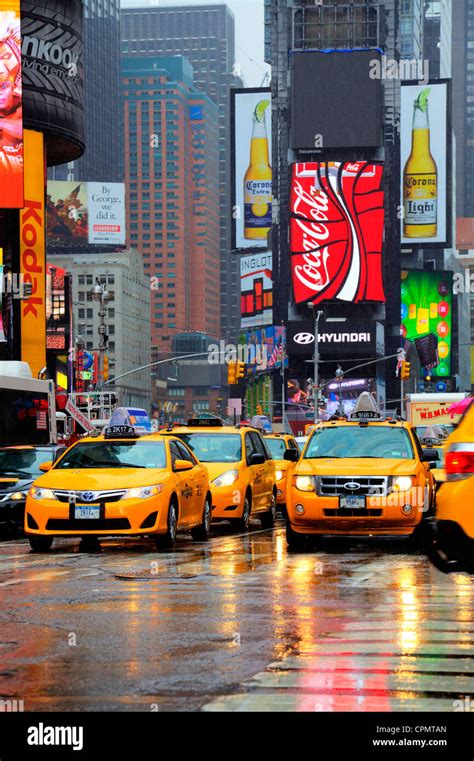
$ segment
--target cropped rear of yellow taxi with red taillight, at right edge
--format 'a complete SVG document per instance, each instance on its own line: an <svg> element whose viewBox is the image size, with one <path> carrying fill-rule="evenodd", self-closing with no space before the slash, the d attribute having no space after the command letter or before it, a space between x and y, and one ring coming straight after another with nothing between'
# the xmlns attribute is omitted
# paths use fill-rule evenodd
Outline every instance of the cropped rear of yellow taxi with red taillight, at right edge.
<svg viewBox="0 0 474 761"><path fill-rule="evenodd" d="M474 573L474 404L447 441L444 468L429 555L442 571Z"/></svg>

